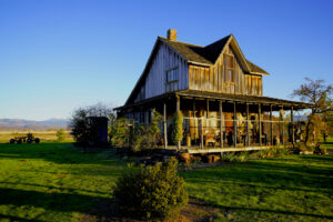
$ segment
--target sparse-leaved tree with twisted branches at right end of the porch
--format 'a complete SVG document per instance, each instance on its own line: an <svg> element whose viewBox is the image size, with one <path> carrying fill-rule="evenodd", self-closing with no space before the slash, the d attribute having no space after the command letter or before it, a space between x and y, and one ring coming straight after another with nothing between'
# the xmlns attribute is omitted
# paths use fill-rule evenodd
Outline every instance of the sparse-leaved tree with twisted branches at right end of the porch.
<svg viewBox="0 0 333 222"><path fill-rule="evenodd" d="M332 117L332 85L325 84L324 80L311 80L305 78L307 83L301 84L300 89L293 91L292 97L299 97L303 102L312 104L311 113L307 115L305 125L305 145L312 140L316 142L319 133L327 131L329 119Z"/></svg>

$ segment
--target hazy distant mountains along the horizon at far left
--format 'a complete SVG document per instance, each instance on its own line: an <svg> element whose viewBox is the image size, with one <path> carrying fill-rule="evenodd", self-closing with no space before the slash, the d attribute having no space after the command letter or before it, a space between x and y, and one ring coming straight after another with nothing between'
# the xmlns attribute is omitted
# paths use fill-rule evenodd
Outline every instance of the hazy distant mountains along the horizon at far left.
<svg viewBox="0 0 333 222"><path fill-rule="evenodd" d="M43 121L22 119L0 119L0 130L47 130L69 125L68 119L49 119Z"/></svg>

